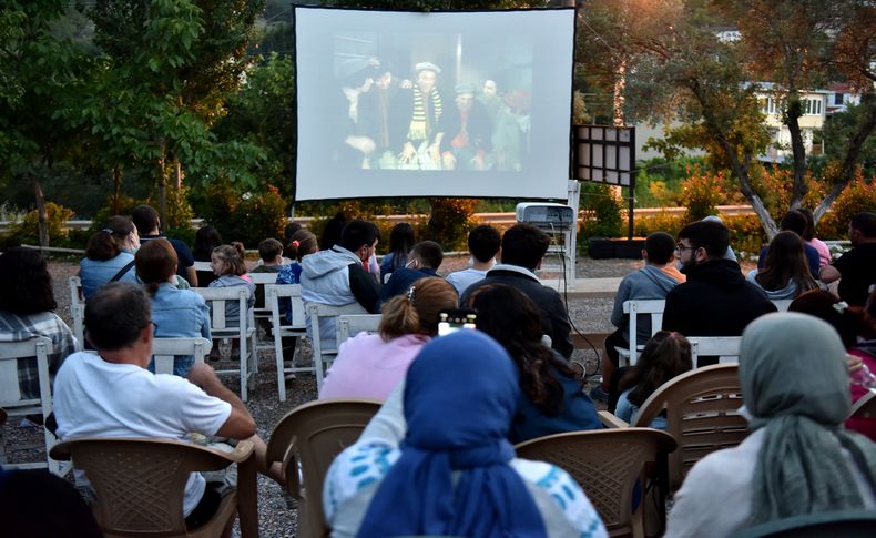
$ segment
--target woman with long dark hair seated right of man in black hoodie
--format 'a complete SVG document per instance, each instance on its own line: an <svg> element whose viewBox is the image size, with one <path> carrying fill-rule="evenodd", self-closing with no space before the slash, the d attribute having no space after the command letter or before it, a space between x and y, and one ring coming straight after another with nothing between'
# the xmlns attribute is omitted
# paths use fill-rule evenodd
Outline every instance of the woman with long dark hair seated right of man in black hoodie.
<svg viewBox="0 0 876 538"><path fill-rule="evenodd" d="M770 242L763 267L751 270L745 278L763 290L770 301L794 298L817 288L803 246L794 232L778 232Z"/></svg>

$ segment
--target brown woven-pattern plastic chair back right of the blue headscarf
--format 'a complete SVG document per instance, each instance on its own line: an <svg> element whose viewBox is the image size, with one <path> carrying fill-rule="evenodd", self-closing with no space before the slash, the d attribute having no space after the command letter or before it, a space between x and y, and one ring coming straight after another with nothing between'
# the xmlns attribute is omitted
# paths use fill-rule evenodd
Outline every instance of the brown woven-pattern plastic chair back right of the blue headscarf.
<svg viewBox="0 0 876 538"><path fill-rule="evenodd" d="M644 536L643 501L633 489L645 463L675 449L671 435L651 428L574 432L539 437L515 447L518 457L553 464L574 478L611 536Z"/></svg>

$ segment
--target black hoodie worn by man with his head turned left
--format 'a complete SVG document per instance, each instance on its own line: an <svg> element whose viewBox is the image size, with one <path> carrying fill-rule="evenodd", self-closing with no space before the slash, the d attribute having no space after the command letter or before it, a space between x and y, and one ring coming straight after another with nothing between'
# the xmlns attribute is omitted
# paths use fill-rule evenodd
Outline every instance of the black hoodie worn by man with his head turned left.
<svg viewBox="0 0 876 538"><path fill-rule="evenodd" d="M687 272L666 294L663 329L685 336L741 336L755 318L776 312L764 292L746 282L732 260L710 260Z"/></svg>

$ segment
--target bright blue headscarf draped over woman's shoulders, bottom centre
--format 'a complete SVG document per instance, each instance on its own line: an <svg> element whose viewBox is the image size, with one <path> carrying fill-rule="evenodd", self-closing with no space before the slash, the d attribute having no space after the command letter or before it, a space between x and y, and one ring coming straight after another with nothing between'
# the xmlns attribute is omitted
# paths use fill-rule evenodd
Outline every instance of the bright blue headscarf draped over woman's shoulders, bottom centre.
<svg viewBox="0 0 876 538"><path fill-rule="evenodd" d="M542 537L544 524L508 463L520 388L508 353L478 331L427 344L407 374L407 437L359 537ZM461 471L454 486L452 473Z"/></svg>

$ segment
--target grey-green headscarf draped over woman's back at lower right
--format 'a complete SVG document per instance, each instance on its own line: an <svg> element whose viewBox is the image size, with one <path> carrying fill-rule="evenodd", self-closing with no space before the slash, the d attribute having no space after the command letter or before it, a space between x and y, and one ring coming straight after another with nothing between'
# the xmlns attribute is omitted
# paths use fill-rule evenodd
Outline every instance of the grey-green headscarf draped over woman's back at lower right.
<svg viewBox="0 0 876 538"><path fill-rule="evenodd" d="M750 522L864 508L842 449L874 488L876 445L843 427L852 403L836 331L796 313L752 322L742 335L740 380L752 428L765 430Z"/></svg>

